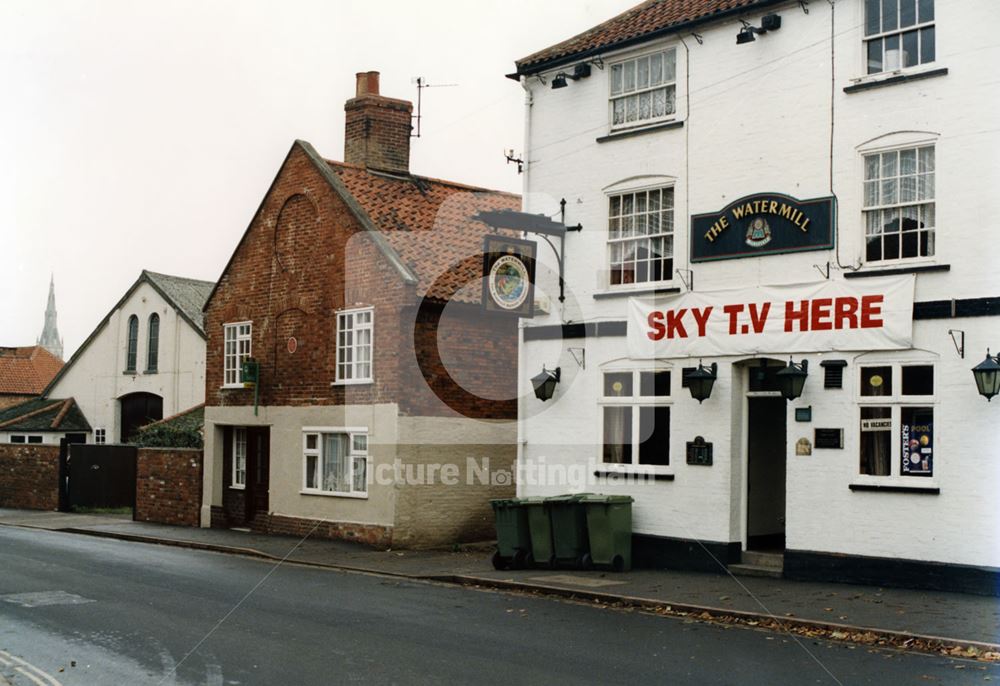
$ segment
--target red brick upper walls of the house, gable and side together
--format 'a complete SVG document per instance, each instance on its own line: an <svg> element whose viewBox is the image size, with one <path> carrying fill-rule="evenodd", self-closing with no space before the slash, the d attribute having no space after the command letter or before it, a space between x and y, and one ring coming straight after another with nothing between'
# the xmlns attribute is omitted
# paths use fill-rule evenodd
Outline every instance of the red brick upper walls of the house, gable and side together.
<svg viewBox="0 0 1000 686"><path fill-rule="evenodd" d="M375 383L331 386L336 311L355 306L374 307ZM467 314L449 307L437 331L428 314L433 307L418 315L412 287L294 146L205 313L206 404L253 404L252 390L220 388L223 324L252 320L262 406L395 402L411 415L513 418L516 320L463 307ZM454 326L462 317L466 325ZM293 353L288 351L292 337L297 342ZM444 364L469 393L461 388L450 393ZM487 400L482 389L489 389ZM508 400L493 402L496 398Z"/></svg>

